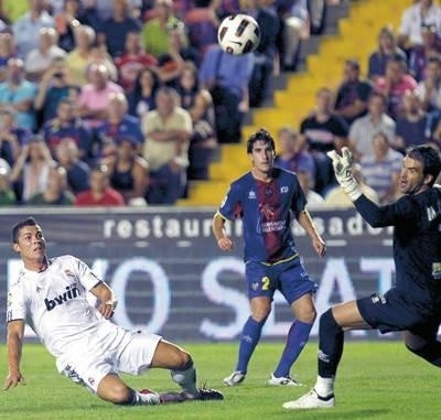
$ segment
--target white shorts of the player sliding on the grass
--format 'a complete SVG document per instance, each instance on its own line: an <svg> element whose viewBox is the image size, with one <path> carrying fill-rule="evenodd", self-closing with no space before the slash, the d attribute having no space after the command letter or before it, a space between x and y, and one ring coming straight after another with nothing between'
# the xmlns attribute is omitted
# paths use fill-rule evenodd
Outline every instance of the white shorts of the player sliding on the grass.
<svg viewBox="0 0 441 420"><path fill-rule="evenodd" d="M57 369L96 394L99 383L108 374L140 375L146 371L161 340L160 335L128 331L106 322L58 357Z"/></svg>

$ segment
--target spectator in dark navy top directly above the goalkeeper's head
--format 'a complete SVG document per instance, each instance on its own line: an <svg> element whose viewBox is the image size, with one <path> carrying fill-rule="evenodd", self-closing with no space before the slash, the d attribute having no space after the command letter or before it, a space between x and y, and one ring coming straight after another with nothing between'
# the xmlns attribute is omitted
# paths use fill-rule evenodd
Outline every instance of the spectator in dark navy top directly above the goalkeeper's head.
<svg viewBox="0 0 441 420"><path fill-rule="evenodd" d="M421 100L416 91L407 91L404 99L404 112L397 119L394 147L405 151L409 146L429 141L432 138L437 120L439 118L430 118L422 109Z"/></svg>

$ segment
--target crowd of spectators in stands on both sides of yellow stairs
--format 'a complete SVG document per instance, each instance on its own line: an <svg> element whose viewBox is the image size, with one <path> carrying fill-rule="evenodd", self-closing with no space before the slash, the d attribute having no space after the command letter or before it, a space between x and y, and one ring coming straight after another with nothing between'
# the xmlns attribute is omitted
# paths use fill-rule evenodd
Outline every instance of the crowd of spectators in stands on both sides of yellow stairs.
<svg viewBox="0 0 441 420"><path fill-rule="evenodd" d="M208 177L218 144L295 71L302 40L349 0L0 1L0 205L174 204ZM224 53L217 28L245 12L258 49ZM385 22L386 23L386 22ZM349 146L366 194L397 197L402 152L441 142L441 9L419 0L385 25L363 77L347 57L340 86L278 132L278 165L310 206L346 206L326 151Z"/></svg>

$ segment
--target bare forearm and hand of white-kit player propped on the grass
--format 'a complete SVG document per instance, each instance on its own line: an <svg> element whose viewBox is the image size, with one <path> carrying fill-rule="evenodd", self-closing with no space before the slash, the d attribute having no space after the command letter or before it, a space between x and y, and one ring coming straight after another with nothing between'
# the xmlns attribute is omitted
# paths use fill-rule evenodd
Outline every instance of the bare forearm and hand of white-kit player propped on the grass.
<svg viewBox="0 0 441 420"><path fill-rule="evenodd" d="M15 388L19 384L26 385L21 371L20 362L23 346L24 321L15 320L8 323L8 366L9 371L3 389Z"/></svg>

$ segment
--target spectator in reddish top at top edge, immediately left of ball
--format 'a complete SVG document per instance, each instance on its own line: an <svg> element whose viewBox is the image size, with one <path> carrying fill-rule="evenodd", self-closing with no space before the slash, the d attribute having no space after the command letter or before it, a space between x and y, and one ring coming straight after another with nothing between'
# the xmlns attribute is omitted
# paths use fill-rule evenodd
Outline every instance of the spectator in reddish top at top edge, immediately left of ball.
<svg viewBox="0 0 441 420"><path fill-rule="evenodd" d="M184 13L184 22L190 43L204 55L206 49L217 42L217 28L220 24L217 10L222 0L195 0L192 3L194 7Z"/></svg>

